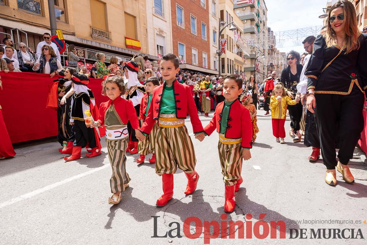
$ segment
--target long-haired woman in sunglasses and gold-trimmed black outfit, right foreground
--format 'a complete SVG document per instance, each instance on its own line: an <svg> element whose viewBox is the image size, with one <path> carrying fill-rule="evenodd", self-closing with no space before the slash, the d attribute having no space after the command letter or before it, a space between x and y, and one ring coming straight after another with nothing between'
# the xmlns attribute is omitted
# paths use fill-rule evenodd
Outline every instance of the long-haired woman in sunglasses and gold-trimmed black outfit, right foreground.
<svg viewBox="0 0 367 245"><path fill-rule="evenodd" d="M342 0L329 12L325 36L317 36L306 71L307 108L316 113L325 182L337 184L335 167L346 183L354 177L348 162L363 130L367 89L367 35L357 28L353 4ZM339 137L335 137L339 135ZM336 160L335 141L339 143Z"/></svg>

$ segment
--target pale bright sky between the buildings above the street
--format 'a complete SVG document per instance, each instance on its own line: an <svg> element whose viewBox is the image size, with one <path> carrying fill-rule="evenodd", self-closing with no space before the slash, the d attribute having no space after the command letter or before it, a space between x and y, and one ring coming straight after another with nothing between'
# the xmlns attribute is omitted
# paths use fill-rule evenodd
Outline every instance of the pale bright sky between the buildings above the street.
<svg viewBox="0 0 367 245"><path fill-rule="evenodd" d="M274 32L323 25L319 18L327 0L265 0L268 8L268 27ZM303 46L280 48L304 52Z"/></svg>

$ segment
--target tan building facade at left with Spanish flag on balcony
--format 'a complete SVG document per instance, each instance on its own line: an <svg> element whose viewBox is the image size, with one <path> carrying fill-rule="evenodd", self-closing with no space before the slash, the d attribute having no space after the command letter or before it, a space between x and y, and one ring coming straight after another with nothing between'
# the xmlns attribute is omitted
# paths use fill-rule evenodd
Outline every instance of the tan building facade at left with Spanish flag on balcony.
<svg viewBox="0 0 367 245"><path fill-rule="evenodd" d="M50 32L48 2L45 0L0 1L0 37L11 36L14 43L25 42L36 50L42 35ZM127 60L133 54L149 55L146 0L54 0L57 29L67 44L75 44L77 54L86 62L97 60L96 52ZM12 30L13 29L13 30ZM19 36L19 38L18 38ZM18 46L15 45L18 49ZM67 59L64 52L62 62Z"/></svg>

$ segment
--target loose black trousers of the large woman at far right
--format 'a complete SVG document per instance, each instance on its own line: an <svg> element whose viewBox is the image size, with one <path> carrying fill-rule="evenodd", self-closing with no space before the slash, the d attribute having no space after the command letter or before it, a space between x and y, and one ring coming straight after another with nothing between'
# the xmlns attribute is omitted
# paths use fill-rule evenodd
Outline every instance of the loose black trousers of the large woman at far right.
<svg viewBox="0 0 367 245"><path fill-rule="evenodd" d="M327 169L337 166L336 141L339 141L339 161L346 165L353 157L363 130L364 94L354 84L348 95L315 94L315 98L316 123L324 165Z"/></svg>

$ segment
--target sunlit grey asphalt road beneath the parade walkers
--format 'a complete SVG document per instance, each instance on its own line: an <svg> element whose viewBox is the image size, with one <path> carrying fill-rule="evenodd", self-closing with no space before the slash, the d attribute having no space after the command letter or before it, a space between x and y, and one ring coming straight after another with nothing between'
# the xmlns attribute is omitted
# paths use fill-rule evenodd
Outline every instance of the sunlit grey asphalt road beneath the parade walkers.
<svg viewBox="0 0 367 245"><path fill-rule="evenodd" d="M200 119L203 125L210 120L204 116ZM189 120L186 125L192 134ZM192 137L200 175L197 190L187 197L183 194L187 180L179 170L174 176L174 199L162 208L155 206L162 190L154 165L137 165L138 155L130 154L126 166L132 179L130 187L123 192L119 205L108 204L111 170L105 140L102 156L73 162L63 161L55 139L19 144L15 158L0 160L0 244L366 244L366 239L360 239L361 235L367 237L367 181L363 180L366 157L362 154L350 162L356 177L354 184L345 183L338 173L338 184L331 187L324 182L322 160L307 160L311 150L304 147L303 140L293 143L287 137L286 144L276 143L271 118L264 116L264 111L258 112L258 126L252 158L243 163L244 182L236 194L237 206L228 217L221 216L224 183L217 133L203 142ZM288 126L286 122L286 131ZM85 153L83 150L82 155ZM255 170L254 165L261 170ZM246 214L251 214L252 219ZM184 221L192 216L196 217L192 218L197 222L196 228L195 223L185 228ZM239 239L243 231L238 227L235 239L220 238L219 230L224 227L225 234L229 221L245 222L244 239ZM274 232L267 235L272 221L284 221L285 239L279 238L279 227L277 238L270 238ZM306 221L317 224L305 224ZM290 229L298 231L297 238L290 238L296 233ZM311 229L315 233L326 229L326 237L320 233L320 239L311 238L315 237ZM339 234L343 229L355 230L354 235L352 230L344 230L345 239L337 234L333 239L331 230L331 238L327 239L328 229L340 229ZM168 233L170 230L173 231ZM204 234L204 230L208 232ZM197 238L189 239L190 235L185 235L188 231L197 234ZM263 232L265 238L261 239ZM166 233L173 238L164 237ZM300 239L301 233L307 238ZM209 239L210 234L219 238ZM346 239L348 236L357 239Z"/></svg>

